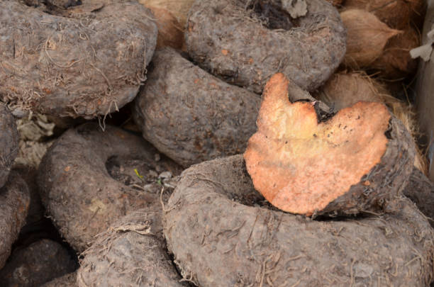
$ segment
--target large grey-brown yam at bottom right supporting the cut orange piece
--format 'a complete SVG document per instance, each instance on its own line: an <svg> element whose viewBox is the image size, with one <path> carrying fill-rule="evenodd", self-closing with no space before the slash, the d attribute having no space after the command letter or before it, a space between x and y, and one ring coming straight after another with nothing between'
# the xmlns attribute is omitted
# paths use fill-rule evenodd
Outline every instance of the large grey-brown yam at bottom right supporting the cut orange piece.
<svg viewBox="0 0 434 287"><path fill-rule="evenodd" d="M434 231L396 199L396 213L345 220L269 210L238 155L184 171L163 224L184 278L201 287L428 286Z"/></svg>

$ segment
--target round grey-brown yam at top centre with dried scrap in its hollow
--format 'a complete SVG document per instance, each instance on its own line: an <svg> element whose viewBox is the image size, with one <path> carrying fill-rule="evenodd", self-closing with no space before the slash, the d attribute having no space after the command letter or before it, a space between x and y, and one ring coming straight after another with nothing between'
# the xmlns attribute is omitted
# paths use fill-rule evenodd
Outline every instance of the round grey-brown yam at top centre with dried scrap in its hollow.
<svg viewBox="0 0 434 287"><path fill-rule="evenodd" d="M257 94L277 72L315 90L343 60L345 28L326 1L296 2L306 2L307 13L295 19L282 8L288 2L196 1L185 32L189 55L212 74Z"/></svg>

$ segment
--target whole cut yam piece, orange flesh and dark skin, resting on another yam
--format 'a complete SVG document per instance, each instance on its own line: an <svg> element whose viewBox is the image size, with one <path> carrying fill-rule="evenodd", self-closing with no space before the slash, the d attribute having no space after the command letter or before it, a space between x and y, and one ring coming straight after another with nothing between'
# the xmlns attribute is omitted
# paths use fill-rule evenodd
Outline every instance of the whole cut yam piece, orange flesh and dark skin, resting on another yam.
<svg viewBox="0 0 434 287"><path fill-rule="evenodd" d="M404 125L382 103L318 118L317 103L289 102L294 87L283 74L265 87L244 154L255 188L273 206L308 216L388 210L413 169Z"/></svg>

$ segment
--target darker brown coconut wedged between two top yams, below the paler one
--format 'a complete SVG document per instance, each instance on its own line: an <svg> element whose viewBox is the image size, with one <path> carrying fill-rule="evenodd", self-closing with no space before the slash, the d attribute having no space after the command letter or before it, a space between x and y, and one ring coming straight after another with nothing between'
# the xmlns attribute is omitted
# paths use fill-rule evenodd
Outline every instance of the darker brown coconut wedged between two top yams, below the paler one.
<svg viewBox="0 0 434 287"><path fill-rule="evenodd" d="M158 28L157 49L167 46L181 49L184 43L184 29L177 18L167 9L144 5L151 9L155 16Z"/></svg>

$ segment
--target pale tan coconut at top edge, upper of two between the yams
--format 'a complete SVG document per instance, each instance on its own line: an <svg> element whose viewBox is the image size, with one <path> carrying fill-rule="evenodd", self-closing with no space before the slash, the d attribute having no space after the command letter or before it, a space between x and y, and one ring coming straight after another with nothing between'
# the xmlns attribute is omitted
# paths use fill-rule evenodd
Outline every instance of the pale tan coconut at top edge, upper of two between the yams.
<svg viewBox="0 0 434 287"><path fill-rule="evenodd" d="M164 9L172 13L181 24L182 29L185 28L187 23L187 15L191 5L195 0L139 0L140 4L148 7Z"/></svg>

